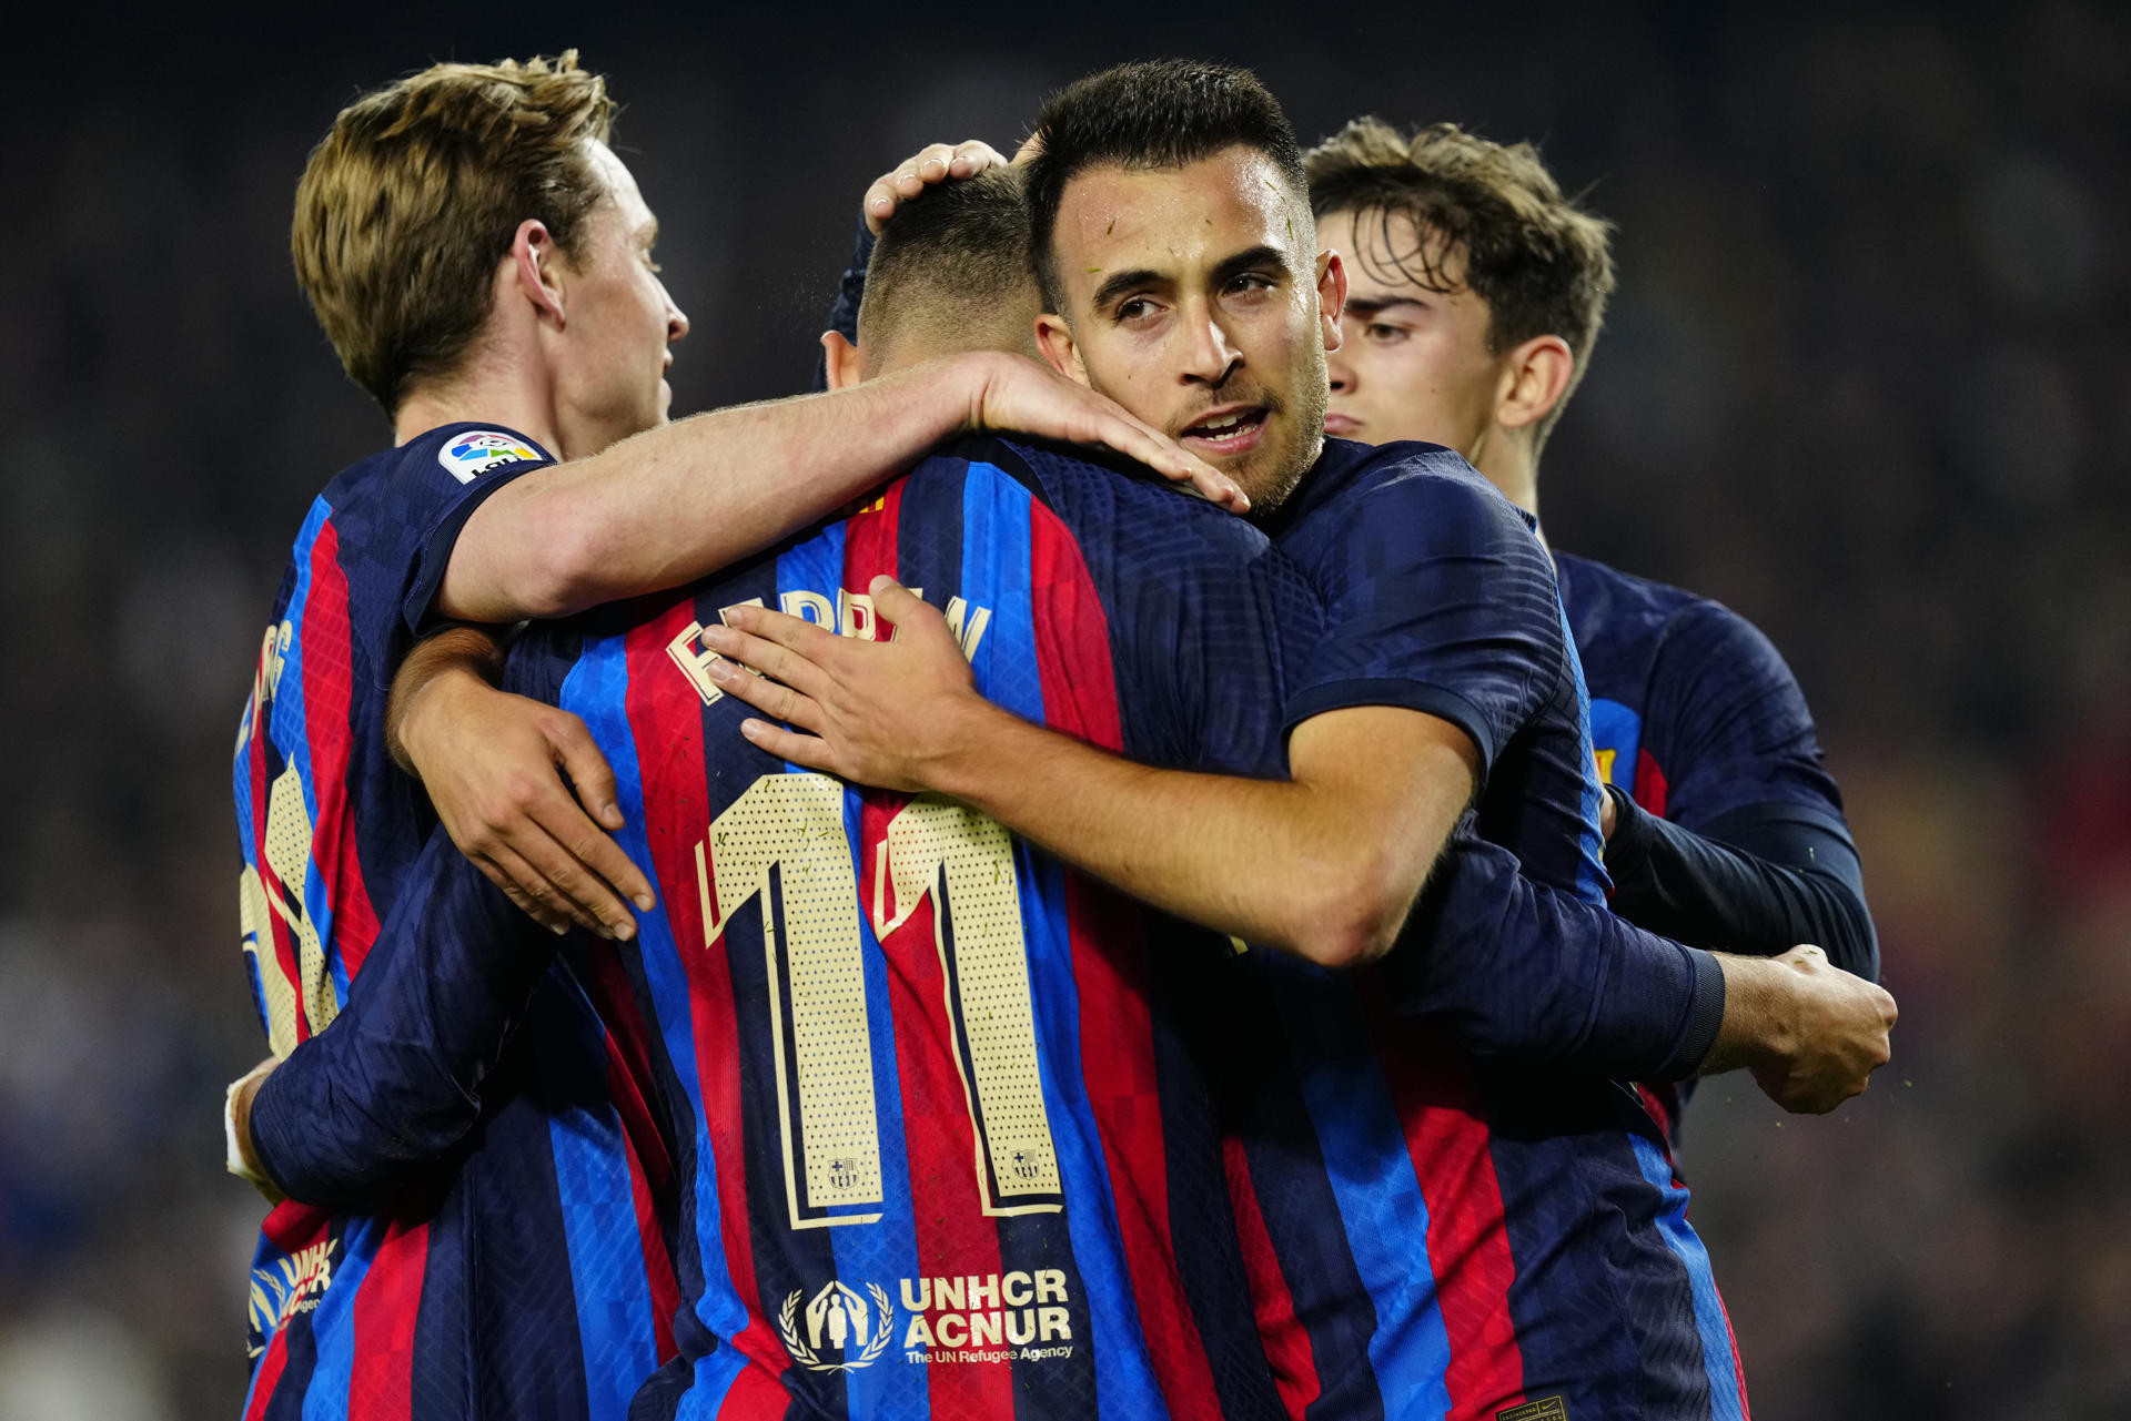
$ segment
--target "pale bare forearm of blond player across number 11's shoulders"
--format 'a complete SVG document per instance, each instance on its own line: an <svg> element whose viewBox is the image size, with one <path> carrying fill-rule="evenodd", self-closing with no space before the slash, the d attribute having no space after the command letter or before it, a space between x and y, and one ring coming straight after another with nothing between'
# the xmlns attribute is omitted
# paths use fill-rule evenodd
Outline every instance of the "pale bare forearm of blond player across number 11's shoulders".
<svg viewBox="0 0 2131 1421"><path fill-rule="evenodd" d="M554 618L712 573L974 424L989 360L720 409L528 473L467 520L437 607L467 622Z"/></svg>

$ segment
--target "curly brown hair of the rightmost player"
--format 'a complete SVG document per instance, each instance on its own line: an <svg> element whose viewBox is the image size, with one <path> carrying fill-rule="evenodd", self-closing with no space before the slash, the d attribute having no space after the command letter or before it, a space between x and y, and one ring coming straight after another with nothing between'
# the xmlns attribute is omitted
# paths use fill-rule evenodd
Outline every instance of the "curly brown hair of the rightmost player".
<svg viewBox="0 0 2131 1421"><path fill-rule="evenodd" d="M1447 266L1464 258L1464 285L1487 303L1496 354L1541 334L1568 343L1575 371L1539 422L1545 445L1583 381L1613 294L1613 224L1581 211L1530 143L1490 143L1455 124L1406 136L1383 119L1353 119L1302 158L1311 211L1353 213L1355 226L1409 217L1421 234L1398 271L1436 292L1453 290ZM1387 243L1389 245L1389 243Z"/></svg>

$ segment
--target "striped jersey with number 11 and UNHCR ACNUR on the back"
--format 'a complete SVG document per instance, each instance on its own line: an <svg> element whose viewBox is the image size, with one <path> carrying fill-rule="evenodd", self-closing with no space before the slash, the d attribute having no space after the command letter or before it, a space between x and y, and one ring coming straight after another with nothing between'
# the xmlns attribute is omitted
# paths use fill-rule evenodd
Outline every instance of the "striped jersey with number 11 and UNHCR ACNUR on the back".
<svg viewBox="0 0 2131 1421"><path fill-rule="evenodd" d="M1279 1415L1204 1016L1234 950L933 797L739 735L699 635L763 603L878 637L891 573L993 701L1153 765L1276 773L1306 584L1240 520L965 441L671 599L526 637L661 893L618 948L669 1112L680 1357L635 1415Z"/></svg>

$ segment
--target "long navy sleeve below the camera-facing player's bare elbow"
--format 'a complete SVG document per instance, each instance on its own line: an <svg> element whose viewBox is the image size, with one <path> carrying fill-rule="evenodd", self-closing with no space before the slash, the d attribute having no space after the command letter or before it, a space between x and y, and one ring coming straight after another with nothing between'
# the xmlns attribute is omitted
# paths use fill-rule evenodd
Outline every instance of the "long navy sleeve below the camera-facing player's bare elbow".
<svg viewBox="0 0 2131 1421"><path fill-rule="evenodd" d="M1617 1080L1692 1076L1724 1018L1709 952L1669 942L1522 876L1460 833L1406 920L1385 980L1481 1057Z"/></svg>

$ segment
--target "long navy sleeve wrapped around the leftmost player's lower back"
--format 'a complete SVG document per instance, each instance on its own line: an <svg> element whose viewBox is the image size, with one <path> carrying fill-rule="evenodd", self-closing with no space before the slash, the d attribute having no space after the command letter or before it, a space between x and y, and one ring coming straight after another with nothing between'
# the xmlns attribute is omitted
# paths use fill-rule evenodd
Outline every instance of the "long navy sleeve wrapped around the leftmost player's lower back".
<svg viewBox="0 0 2131 1421"><path fill-rule="evenodd" d="M435 1167L477 1123L556 942L437 829L347 1008L251 1104L266 1176L292 1199L347 1208Z"/></svg>

